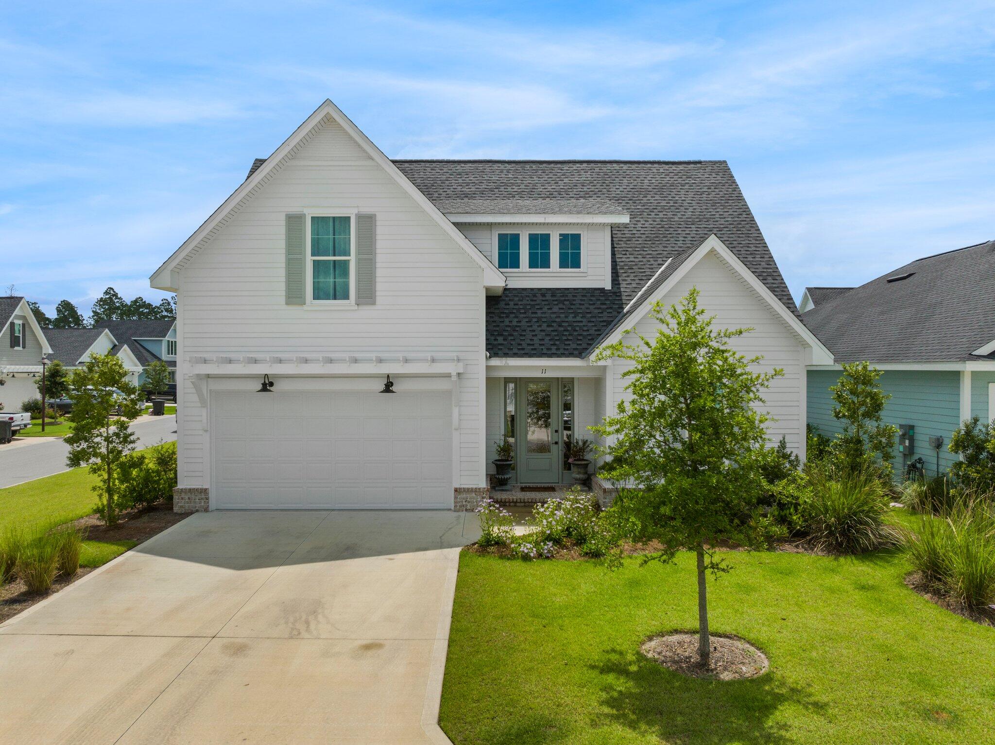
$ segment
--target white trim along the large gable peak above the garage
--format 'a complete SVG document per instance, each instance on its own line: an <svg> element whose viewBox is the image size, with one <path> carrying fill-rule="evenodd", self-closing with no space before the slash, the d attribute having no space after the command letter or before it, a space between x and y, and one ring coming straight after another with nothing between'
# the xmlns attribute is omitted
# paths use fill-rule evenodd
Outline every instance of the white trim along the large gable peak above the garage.
<svg viewBox="0 0 995 745"><path fill-rule="evenodd" d="M212 213L212 215L203 223L203 225L198 228L192 236L190 236L183 245L180 246L172 256L167 259L159 269L157 269L152 276L149 278L149 283L155 289L161 289L164 291L175 292L179 285L179 277L177 272L177 265L185 259L191 252L191 250L197 246L224 218L225 215L229 213L250 191L252 191L260 181L262 181L266 175L269 173L270 168L274 163L280 162L292 149L297 147L298 142L303 139L304 135L307 134L322 118L326 115L331 116L335 122L341 126L348 134L359 144L366 154L369 155L381 168L383 168L391 177L404 189L408 195L415 200L415 202L423 209L425 212L432 217L439 227L452 238L456 244L463 249L471 260L477 264L484 271L484 285L487 287L503 287L506 279L502 275L494 264L488 260L480 252L480 250L474 246L470 239L464 236L453 223L446 219L439 209L429 201L429 199L418 190L417 187L401 173L400 169L394 165L394 163L388 158L383 152L380 151L373 142L370 141L363 132L357 127L352 121L346 116L342 111L331 102L328 98L325 98L324 102L321 103L314 112L304 119L303 123L294 130L294 133L284 140L284 143L274 151L274 153L266 159L256 172L252 176L247 178L242 184L237 188L232 195L224 201L224 203Z"/></svg>

